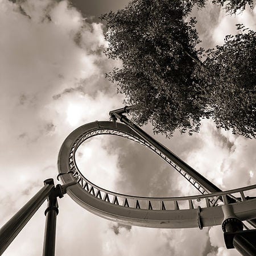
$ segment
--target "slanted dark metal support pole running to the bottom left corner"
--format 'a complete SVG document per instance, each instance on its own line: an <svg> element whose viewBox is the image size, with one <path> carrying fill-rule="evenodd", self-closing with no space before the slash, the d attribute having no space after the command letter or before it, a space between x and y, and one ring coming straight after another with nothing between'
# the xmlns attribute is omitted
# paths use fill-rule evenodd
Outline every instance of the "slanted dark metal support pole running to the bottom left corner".
<svg viewBox="0 0 256 256"><path fill-rule="evenodd" d="M23 229L54 188L54 184L44 184L44 187L0 229L0 255L19 234L20 230Z"/></svg>

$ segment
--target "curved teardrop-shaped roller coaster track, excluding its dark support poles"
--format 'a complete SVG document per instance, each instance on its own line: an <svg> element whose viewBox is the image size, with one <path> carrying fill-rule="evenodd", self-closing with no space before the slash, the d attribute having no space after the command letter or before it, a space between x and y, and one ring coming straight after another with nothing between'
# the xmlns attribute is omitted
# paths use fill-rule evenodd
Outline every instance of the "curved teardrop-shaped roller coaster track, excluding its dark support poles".
<svg viewBox="0 0 256 256"><path fill-rule="evenodd" d="M108 191L93 184L80 172L75 154L81 143L103 134L127 138L147 147L185 177L202 195L140 197ZM181 166L177 163L181 163ZM200 184L200 181L192 177L193 173L188 174L189 168L184 166L182 161L177 162L175 155L164 154L164 151L158 150L143 136L123 123L96 121L77 128L68 135L60 148L58 167L64 184L77 182L76 185L67 189L67 193L76 203L98 216L122 224L154 228L199 227L201 229L203 226L220 225L224 220L226 208L229 208L229 212L231 211L240 220L256 217L256 199L250 199L246 194L251 195L253 191L255 195L256 185L225 192L209 191L210 188L207 185ZM233 200L230 201L230 198Z"/></svg>

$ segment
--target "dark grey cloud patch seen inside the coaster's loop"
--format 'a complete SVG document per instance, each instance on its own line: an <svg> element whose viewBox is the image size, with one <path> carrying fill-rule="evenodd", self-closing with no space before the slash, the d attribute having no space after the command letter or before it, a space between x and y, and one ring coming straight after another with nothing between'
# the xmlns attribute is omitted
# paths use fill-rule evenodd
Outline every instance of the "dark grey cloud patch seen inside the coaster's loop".
<svg viewBox="0 0 256 256"><path fill-rule="evenodd" d="M187 184L162 158L135 142L108 138L108 150L118 154L118 192L137 196L179 196L177 181ZM139 157L138 157L139 156Z"/></svg>

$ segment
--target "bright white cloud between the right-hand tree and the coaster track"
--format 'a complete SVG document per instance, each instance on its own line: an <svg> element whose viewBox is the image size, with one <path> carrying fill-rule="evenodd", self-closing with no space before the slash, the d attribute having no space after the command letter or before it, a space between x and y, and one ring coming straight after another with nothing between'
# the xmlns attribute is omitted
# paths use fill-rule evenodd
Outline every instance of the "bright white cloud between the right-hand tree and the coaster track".
<svg viewBox="0 0 256 256"><path fill-rule="evenodd" d="M204 122L202 128L204 143L189 153L188 163L224 190L255 183L250 175L255 173L255 141L217 130L213 122Z"/></svg>

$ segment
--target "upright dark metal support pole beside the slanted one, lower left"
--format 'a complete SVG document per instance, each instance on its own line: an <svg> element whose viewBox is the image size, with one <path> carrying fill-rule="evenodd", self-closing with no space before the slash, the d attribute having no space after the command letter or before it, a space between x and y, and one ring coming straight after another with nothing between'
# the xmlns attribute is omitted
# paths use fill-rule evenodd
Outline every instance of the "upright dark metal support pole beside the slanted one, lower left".
<svg viewBox="0 0 256 256"><path fill-rule="evenodd" d="M48 180L47 183L53 184L53 179ZM55 255L56 217L59 213L58 207L57 193L52 191L48 197L48 205L44 213L46 214L46 228L44 230L43 256Z"/></svg>

